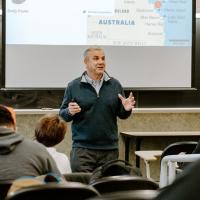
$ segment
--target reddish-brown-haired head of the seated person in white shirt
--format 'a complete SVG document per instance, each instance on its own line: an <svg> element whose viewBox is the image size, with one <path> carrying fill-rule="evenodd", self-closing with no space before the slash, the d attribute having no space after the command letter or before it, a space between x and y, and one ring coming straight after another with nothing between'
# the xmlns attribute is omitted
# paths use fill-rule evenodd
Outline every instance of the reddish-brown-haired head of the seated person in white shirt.
<svg viewBox="0 0 200 200"><path fill-rule="evenodd" d="M52 147L60 143L66 134L67 123L57 114L45 115L35 128L35 139L46 147Z"/></svg>

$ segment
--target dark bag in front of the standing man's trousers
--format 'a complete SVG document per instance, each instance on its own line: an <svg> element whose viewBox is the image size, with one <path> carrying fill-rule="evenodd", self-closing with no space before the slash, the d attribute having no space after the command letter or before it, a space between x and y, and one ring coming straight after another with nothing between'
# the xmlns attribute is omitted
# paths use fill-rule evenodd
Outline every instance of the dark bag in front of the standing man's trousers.
<svg viewBox="0 0 200 200"><path fill-rule="evenodd" d="M96 168L91 175L90 183L107 176L132 175L142 176L140 169L133 167L124 160L111 160Z"/></svg>

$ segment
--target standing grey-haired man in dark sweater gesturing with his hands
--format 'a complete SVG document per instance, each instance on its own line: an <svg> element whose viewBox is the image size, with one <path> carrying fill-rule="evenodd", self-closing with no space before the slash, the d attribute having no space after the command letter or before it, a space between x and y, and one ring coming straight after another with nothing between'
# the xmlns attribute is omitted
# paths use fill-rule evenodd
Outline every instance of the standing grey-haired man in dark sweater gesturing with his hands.
<svg viewBox="0 0 200 200"><path fill-rule="evenodd" d="M135 100L118 80L105 72L105 54L101 48L84 52L86 71L71 81L64 94L60 116L72 121L73 172L92 172L107 161L118 158L117 117L131 115Z"/></svg>

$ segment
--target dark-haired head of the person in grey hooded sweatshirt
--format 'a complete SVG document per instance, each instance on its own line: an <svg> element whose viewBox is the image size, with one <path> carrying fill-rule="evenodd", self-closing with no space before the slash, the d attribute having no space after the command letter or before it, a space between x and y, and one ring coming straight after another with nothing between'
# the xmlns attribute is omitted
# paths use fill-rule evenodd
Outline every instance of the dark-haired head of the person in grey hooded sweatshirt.
<svg viewBox="0 0 200 200"><path fill-rule="evenodd" d="M16 130L16 114L13 108L0 104L0 126Z"/></svg>

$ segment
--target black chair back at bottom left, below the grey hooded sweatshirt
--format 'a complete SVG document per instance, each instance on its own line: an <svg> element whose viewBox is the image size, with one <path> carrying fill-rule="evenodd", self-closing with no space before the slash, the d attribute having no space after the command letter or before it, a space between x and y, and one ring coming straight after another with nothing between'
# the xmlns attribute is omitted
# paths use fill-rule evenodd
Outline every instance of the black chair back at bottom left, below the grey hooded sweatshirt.
<svg viewBox="0 0 200 200"><path fill-rule="evenodd" d="M99 193L91 186L78 182L66 182L25 187L8 195L6 200L84 200L98 195Z"/></svg>

